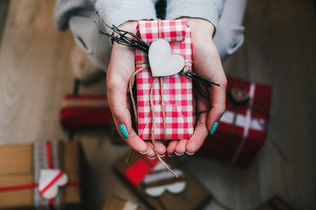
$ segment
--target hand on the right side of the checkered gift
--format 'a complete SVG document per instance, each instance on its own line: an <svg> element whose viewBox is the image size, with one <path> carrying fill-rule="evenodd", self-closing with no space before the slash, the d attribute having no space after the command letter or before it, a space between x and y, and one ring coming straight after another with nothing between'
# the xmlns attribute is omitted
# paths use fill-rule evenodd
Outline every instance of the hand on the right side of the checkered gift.
<svg viewBox="0 0 316 210"><path fill-rule="evenodd" d="M204 78L213 80L220 87L209 88L200 83L194 85L195 132L187 140L172 140L166 149L167 153L181 155L192 154L199 150L214 123L220 120L225 112L225 92L227 80L218 50L213 44L214 27L211 22L199 18L180 18L187 20L192 36L192 60L194 71Z"/></svg>

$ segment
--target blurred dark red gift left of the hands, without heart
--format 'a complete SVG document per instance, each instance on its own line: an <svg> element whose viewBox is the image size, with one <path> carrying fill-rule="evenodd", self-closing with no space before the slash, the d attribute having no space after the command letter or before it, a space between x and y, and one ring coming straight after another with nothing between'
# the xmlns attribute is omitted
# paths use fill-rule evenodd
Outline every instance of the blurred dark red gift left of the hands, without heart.
<svg viewBox="0 0 316 210"><path fill-rule="evenodd" d="M107 127L112 121L106 96L67 94L62 101L60 124L65 129Z"/></svg>

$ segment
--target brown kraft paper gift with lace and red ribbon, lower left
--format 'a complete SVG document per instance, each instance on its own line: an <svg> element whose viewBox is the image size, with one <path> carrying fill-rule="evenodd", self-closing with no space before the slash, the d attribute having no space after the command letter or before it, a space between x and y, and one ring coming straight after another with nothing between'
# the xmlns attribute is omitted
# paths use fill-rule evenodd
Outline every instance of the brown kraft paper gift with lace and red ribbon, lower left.
<svg viewBox="0 0 316 210"><path fill-rule="evenodd" d="M77 141L0 146L0 209L81 209L81 155ZM37 189L39 170L48 165L69 179L52 200L44 200Z"/></svg>

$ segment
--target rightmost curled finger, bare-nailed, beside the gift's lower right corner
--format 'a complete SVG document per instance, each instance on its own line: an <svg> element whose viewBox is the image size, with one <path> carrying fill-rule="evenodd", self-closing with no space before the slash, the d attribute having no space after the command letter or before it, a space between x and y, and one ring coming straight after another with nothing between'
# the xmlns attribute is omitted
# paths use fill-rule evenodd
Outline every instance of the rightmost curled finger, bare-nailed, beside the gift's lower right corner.
<svg viewBox="0 0 316 210"><path fill-rule="evenodd" d="M195 132L192 137L187 141L186 151L187 153L195 153L201 148L204 143L204 139L209 134L209 130L206 127L207 113L201 113L197 118Z"/></svg>

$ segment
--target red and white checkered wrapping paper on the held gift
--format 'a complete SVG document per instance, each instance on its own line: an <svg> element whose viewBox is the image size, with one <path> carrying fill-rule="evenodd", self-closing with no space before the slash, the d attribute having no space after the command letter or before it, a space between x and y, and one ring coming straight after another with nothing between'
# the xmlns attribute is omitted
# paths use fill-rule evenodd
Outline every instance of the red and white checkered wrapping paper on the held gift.
<svg viewBox="0 0 316 210"><path fill-rule="evenodd" d="M192 59L191 32L184 20L162 20L160 25L161 38L171 45L171 53L179 53L185 60ZM146 43L159 38L158 21L138 21L137 36ZM145 52L136 49L136 62L147 62ZM140 69L146 64L137 64ZM192 70L192 66L191 69ZM140 71L136 75L138 105L138 135L140 139L152 138L152 113L150 109L150 87L152 85L150 69ZM194 131L192 80L177 73L163 78L164 106L166 113L166 138L189 139ZM154 139L164 139L162 99L159 80L154 84L152 97L154 104Z"/></svg>

